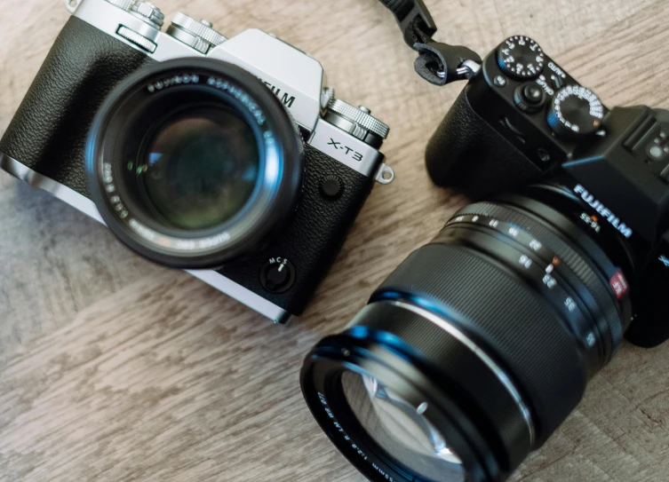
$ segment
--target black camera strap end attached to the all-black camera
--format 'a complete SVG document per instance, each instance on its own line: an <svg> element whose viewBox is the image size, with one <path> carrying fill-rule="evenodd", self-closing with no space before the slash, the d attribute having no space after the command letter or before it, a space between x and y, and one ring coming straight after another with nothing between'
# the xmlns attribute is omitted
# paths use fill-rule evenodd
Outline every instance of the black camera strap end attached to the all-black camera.
<svg viewBox="0 0 669 482"><path fill-rule="evenodd" d="M427 82L446 85L472 77L478 72L481 57L460 45L435 42L437 27L423 0L380 0L394 13L404 42L418 51L416 72Z"/></svg>

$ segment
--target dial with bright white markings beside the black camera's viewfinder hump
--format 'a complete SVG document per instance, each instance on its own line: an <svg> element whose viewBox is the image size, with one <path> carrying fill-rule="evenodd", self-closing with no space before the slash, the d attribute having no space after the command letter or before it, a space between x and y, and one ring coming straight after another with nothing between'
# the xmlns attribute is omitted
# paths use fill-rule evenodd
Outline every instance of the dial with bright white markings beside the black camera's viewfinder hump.
<svg viewBox="0 0 669 482"><path fill-rule="evenodd" d="M604 106L591 91L580 85L568 85L555 94L548 111L548 124L560 136L579 137L601 129Z"/></svg>

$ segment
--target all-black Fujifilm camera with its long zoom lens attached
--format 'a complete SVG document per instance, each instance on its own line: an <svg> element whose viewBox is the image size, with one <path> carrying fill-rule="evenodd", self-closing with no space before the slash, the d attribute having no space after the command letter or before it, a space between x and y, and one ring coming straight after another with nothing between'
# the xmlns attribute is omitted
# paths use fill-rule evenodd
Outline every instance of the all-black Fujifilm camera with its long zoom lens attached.
<svg viewBox="0 0 669 482"><path fill-rule="evenodd" d="M466 70L426 162L482 201L302 371L315 418L370 480L506 480L624 334L669 338L669 112L609 110L525 36Z"/></svg>

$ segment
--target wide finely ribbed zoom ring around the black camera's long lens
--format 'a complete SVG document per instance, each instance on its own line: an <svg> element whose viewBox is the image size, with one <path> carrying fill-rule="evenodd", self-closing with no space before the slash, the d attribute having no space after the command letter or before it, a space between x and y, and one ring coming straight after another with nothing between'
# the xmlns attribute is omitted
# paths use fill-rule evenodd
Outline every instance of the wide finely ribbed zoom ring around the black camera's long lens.
<svg viewBox="0 0 669 482"><path fill-rule="evenodd" d="M538 445L583 397L585 363L569 329L520 279L474 250L442 244L418 249L372 299L386 292L418 296L459 313L460 328L506 367L529 397Z"/></svg>

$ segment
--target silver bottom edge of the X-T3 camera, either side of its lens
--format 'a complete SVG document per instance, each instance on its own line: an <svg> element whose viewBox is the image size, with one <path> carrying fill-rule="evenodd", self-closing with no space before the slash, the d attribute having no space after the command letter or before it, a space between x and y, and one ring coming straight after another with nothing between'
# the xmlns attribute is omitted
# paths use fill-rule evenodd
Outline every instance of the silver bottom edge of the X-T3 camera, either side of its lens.
<svg viewBox="0 0 669 482"><path fill-rule="evenodd" d="M105 222L100 217L98 208L95 202L88 199L83 194L77 193L68 186L54 181L52 178L31 170L21 162L13 159L7 154L0 152L0 169L8 172L15 178L26 182L28 185L42 189L60 201L64 201L71 207L81 211L88 217L92 217L100 224L105 225ZM278 324L286 324L291 320L291 313L286 312L280 306L267 301L262 296L256 295L251 290L244 288L242 285L229 280L222 274L215 271L187 271L187 273L195 276L195 278L204 281L212 288L218 289L221 293L235 298L238 302L245 304L251 310L259 312L261 315L273 320Z"/></svg>

